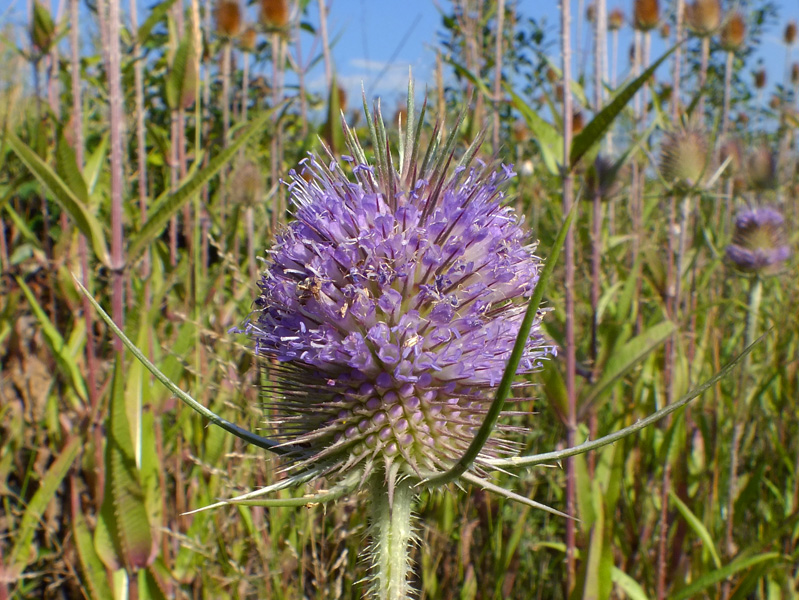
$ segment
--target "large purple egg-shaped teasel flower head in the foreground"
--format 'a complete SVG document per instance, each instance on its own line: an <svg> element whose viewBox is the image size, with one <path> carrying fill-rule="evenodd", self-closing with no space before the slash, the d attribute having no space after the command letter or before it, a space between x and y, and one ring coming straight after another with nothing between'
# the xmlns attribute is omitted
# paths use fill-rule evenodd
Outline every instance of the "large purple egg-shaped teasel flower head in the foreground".
<svg viewBox="0 0 799 600"><path fill-rule="evenodd" d="M455 133L444 140L438 126L438 143L420 148L410 105L408 116L399 160L378 107L367 113L375 163L345 123L352 156L305 159L310 181L291 173L295 220L243 327L266 359L265 405L289 468L385 477L389 490L446 471L469 446L541 267L504 204L512 168L474 160L479 140L456 160ZM540 320L520 371L553 353ZM508 431L494 430L474 468L514 452Z"/></svg>

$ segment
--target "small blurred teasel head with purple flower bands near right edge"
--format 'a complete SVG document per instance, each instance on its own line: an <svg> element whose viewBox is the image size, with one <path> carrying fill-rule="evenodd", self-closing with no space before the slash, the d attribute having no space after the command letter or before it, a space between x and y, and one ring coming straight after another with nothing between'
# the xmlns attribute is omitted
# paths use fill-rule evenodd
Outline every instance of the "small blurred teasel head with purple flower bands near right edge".
<svg viewBox="0 0 799 600"><path fill-rule="evenodd" d="M784 219L771 207L748 208L736 216L727 259L740 271L774 275L791 256L785 243Z"/></svg>

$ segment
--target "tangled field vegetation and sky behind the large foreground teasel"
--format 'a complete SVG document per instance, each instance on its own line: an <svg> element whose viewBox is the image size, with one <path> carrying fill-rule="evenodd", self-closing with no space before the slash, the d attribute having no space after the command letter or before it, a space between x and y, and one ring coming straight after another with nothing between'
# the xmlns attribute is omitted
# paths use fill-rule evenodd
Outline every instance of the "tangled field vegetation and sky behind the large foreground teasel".
<svg viewBox="0 0 799 600"><path fill-rule="evenodd" d="M229 330L291 218L281 178L342 151L340 111L366 128L330 52L347 30L325 0L57 4L0 37L0 600L358 597L357 496L185 514L278 480L279 462L181 406L73 281L173 381L257 430L257 369ZM799 598L796 25L767 0L658 4L551 8L573 40L523 2L439 7L436 67L416 82L428 115L466 108L464 144L486 131L482 155L515 163L544 257L579 204L547 298L565 358L510 419L528 452L593 439L765 338L659 426L499 478L576 524L479 489L424 494L422 598ZM755 60L764 36L784 64ZM687 39L628 102L652 38ZM763 205L786 222L767 242L793 254L742 274L725 258L734 216Z"/></svg>

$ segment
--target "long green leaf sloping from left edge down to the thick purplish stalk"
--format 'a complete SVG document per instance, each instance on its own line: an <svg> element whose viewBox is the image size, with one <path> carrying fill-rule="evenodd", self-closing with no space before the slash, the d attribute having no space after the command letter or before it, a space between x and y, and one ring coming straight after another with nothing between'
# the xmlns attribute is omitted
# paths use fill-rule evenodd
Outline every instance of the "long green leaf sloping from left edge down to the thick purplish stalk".
<svg viewBox="0 0 799 600"><path fill-rule="evenodd" d="M108 265L108 249L100 222L95 219L94 215L78 199L72 189L64 183L50 166L14 135L12 131L6 132L6 141L30 172L36 176L44 187L50 190L50 193L56 202L61 205L61 208L69 213L80 232L91 240L98 260Z"/></svg>

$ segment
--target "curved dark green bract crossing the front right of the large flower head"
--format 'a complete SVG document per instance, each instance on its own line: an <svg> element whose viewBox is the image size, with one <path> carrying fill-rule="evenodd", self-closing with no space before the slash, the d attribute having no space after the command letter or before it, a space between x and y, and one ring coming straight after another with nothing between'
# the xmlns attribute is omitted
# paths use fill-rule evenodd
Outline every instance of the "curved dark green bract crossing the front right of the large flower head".
<svg viewBox="0 0 799 600"><path fill-rule="evenodd" d="M466 452L464 452L463 456L458 460L458 462L456 462L449 471L427 478L425 480L427 485L445 485L463 475L477 458L477 455L480 454L483 446L488 441L488 438L494 429L494 425L496 425L497 419L499 419L499 415L502 413L502 409L505 406L505 400L510 394L511 385L516 377L516 370L519 367L519 362L524 354L524 347L527 344L527 337L530 335L530 329L532 328L536 314L538 313L538 307L541 305L541 300L544 297L544 290L546 289L549 278L552 275L552 271L555 269L555 264L558 261L558 256L560 256L561 248L563 248L563 243L566 241L566 233L569 231L576 214L577 211L575 208L572 208L571 212L569 212L566 219L563 221L560 231L558 231L558 236L555 238L555 243L552 246L549 258L547 259L544 268L541 270L538 283L535 286L535 290L530 298L530 302L527 304L527 311L524 314L524 319L522 320L521 327L519 328L519 334L516 336L516 343L513 345L513 351L511 352L510 358L508 359L508 364L505 367L505 373L502 375L502 380L497 388L497 394L494 398L494 401L491 403L491 406L489 407L488 412L483 419L483 424L480 426L480 429L477 431L472 443L469 444Z"/></svg>

